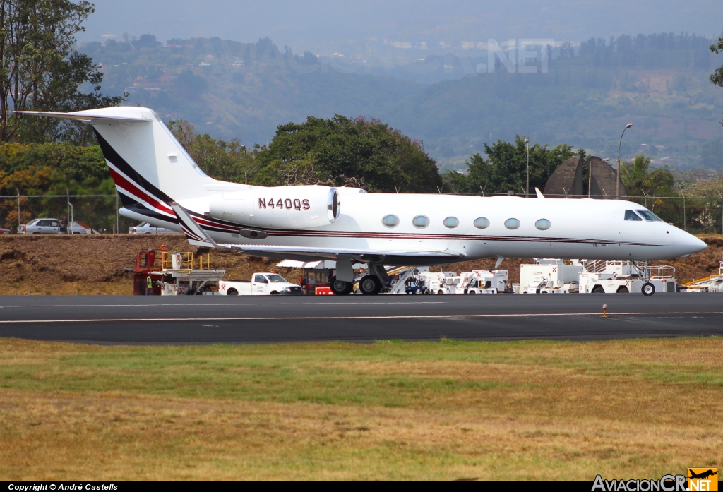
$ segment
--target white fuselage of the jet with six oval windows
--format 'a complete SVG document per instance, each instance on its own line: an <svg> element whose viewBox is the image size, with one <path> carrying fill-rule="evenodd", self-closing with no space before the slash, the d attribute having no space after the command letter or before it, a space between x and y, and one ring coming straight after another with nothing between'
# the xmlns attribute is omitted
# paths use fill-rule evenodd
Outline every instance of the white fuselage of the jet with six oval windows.
<svg viewBox="0 0 723 492"><path fill-rule="evenodd" d="M202 199L194 199L186 206L199 215L208 210ZM236 244L380 251L449 249L463 254L464 260L490 257L653 260L685 256L706 248L703 241L673 225L625 220L625 210L645 209L633 202L613 199L345 192L341 194L341 215L328 225L296 229L253 223L250 227L268 232L267 238L257 241L240 237L232 225L220 228L228 232L212 228L208 233L215 241ZM136 214L124 212L124 215L140 220ZM390 227L382 223L388 215L398 217L398 225ZM414 218L420 215L429 219L429 225L419 228L413 224ZM457 219L458 225L447 227L448 217ZM486 228L475 226L481 217L489 221ZM506 227L509 219L516 219L518 228ZM549 221L547 230L536 227L542 219ZM151 217L142 220L153 222ZM213 217L209 220L218 224ZM173 228L161 222L159 226ZM485 223L483 220L478 224L480 222ZM448 224L454 223L448 220ZM508 224L515 225L515 221ZM249 227L249 224L238 223L236 227ZM440 258L437 264L452 261L460 259ZM429 264L429 259L424 260L424 264Z"/></svg>

